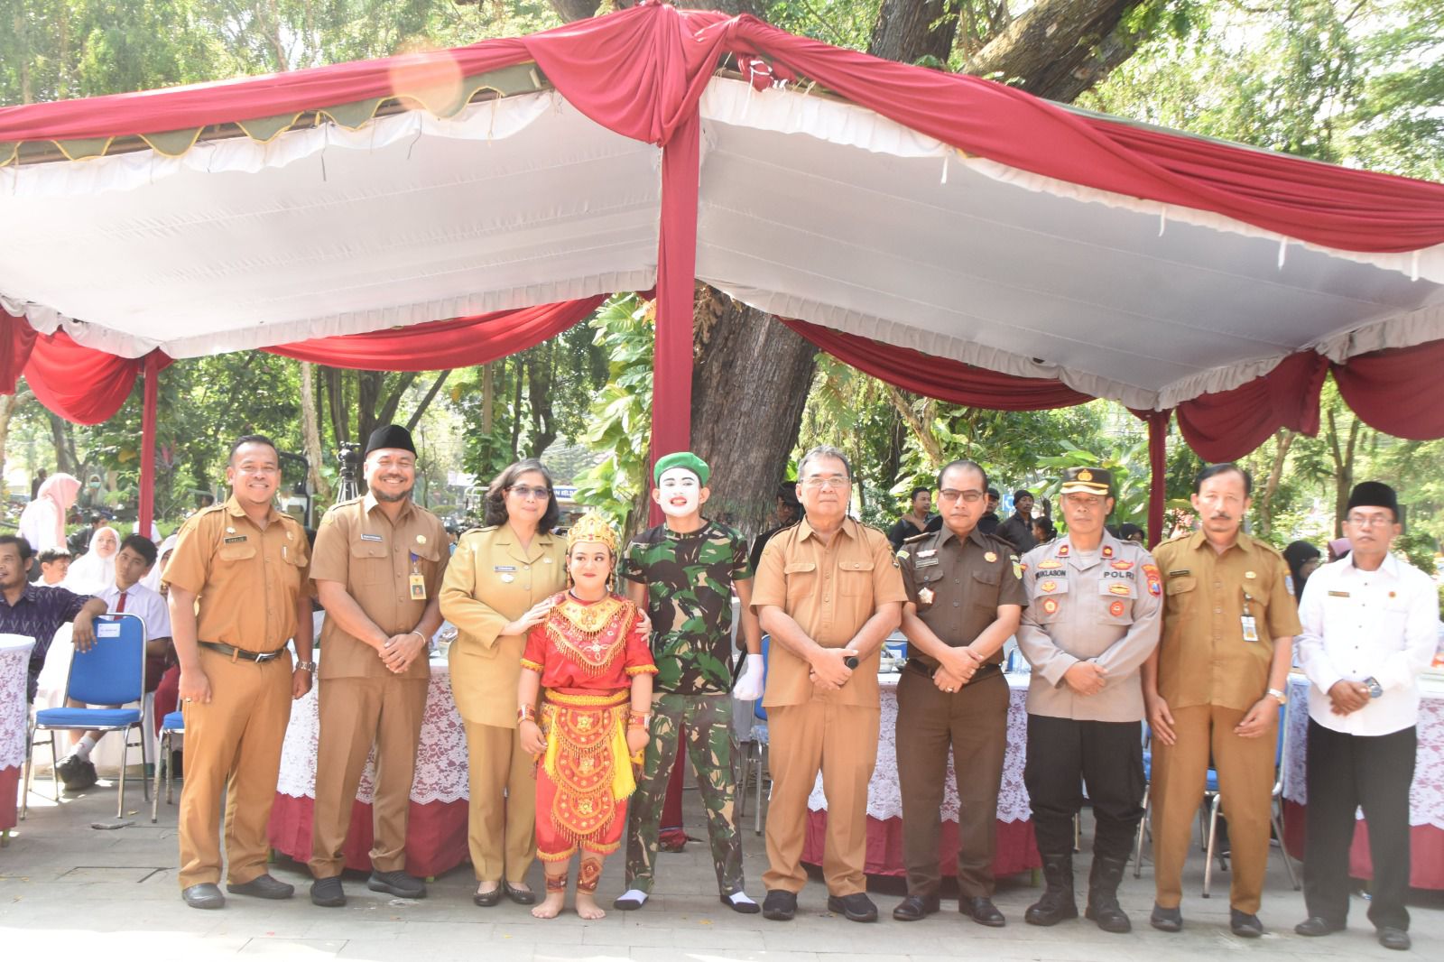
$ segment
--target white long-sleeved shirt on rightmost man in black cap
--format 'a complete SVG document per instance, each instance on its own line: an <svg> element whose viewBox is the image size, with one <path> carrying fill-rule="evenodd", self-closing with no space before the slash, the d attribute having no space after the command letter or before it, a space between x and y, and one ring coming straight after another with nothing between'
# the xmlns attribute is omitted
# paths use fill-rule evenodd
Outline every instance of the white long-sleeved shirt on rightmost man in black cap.
<svg viewBox="0 0 1444 962"><path fill-rule="evenodd" d="M1418 721L1418 676L1438 646L1438 595L1428 575L1393 555L1378 571L1360 571L1349 555L1308 576L1298 620L1298 657L1313 682L1310 718L1347 735L1388 735ZM1383 695L1336 715L1328 689L1367 677Z"/></svg>

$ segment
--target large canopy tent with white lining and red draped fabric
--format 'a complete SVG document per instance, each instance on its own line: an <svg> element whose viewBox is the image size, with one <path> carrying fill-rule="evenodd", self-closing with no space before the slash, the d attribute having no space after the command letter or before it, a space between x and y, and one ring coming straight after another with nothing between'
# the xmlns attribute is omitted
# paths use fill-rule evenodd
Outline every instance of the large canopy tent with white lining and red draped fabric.
<svg viewBox="0 0 1444 962"><path fill-rule="evenodd" d="M430 370L700 279L891 383L1147 419L1209 459L1444 436L1444 185L1097 117L656 3L425 56L0 110L0 389L104 420L170 358ZM142 478L142 530L150 516Z"/></svg>

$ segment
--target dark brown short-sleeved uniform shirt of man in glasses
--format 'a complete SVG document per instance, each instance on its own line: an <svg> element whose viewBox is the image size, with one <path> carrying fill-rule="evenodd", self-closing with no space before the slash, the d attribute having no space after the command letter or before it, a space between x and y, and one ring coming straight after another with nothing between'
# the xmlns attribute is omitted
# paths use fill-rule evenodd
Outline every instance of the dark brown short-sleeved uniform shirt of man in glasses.
<svg viewBox="0 0 1444 962"><path fill-rule="evenodd" d="M946 526L908 539L898 550L907 598L943 643L960 649L998 620L998 605L1028 605L1012 545L976 527L957 537ZM908 660L937 669L937 659L908 644ZM1002 663L1002 651L992 659Z"/></svg>

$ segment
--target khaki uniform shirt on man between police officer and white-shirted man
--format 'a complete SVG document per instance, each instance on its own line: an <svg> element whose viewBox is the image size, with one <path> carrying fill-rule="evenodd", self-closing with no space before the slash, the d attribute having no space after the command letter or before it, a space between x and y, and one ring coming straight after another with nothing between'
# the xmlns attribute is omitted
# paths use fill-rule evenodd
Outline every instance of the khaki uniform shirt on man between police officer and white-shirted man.
<svg viewBox="0 0 1444 962"><path fill-rule="evenodd" d="M1253 708L1268 692L1274 638L1301 631L1288 562L1242 532L1222 555L1194 532L1160 545L1157 558L1165 594L1158 693L1171 708ZM1243 640L1245 605L1258 641Z"/></svg>

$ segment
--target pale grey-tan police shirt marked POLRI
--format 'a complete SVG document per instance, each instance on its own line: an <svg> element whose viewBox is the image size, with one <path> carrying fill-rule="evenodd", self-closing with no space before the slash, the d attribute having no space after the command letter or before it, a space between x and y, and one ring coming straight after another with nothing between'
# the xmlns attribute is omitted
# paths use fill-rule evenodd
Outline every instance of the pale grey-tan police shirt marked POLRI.
<svg viewBox="0 0 1444 962"><path fill-rule="evenodd" d="M1162 585L1142 545L1108 532L1080 555L1067 536L1022 556L1028 607L1018 647L1032 664L1028 712L1079 721L1142 721L1139 667L1158 646ZM1063 675L1096 662L1108 675L1097 695L1079 695Z"/></svg>

